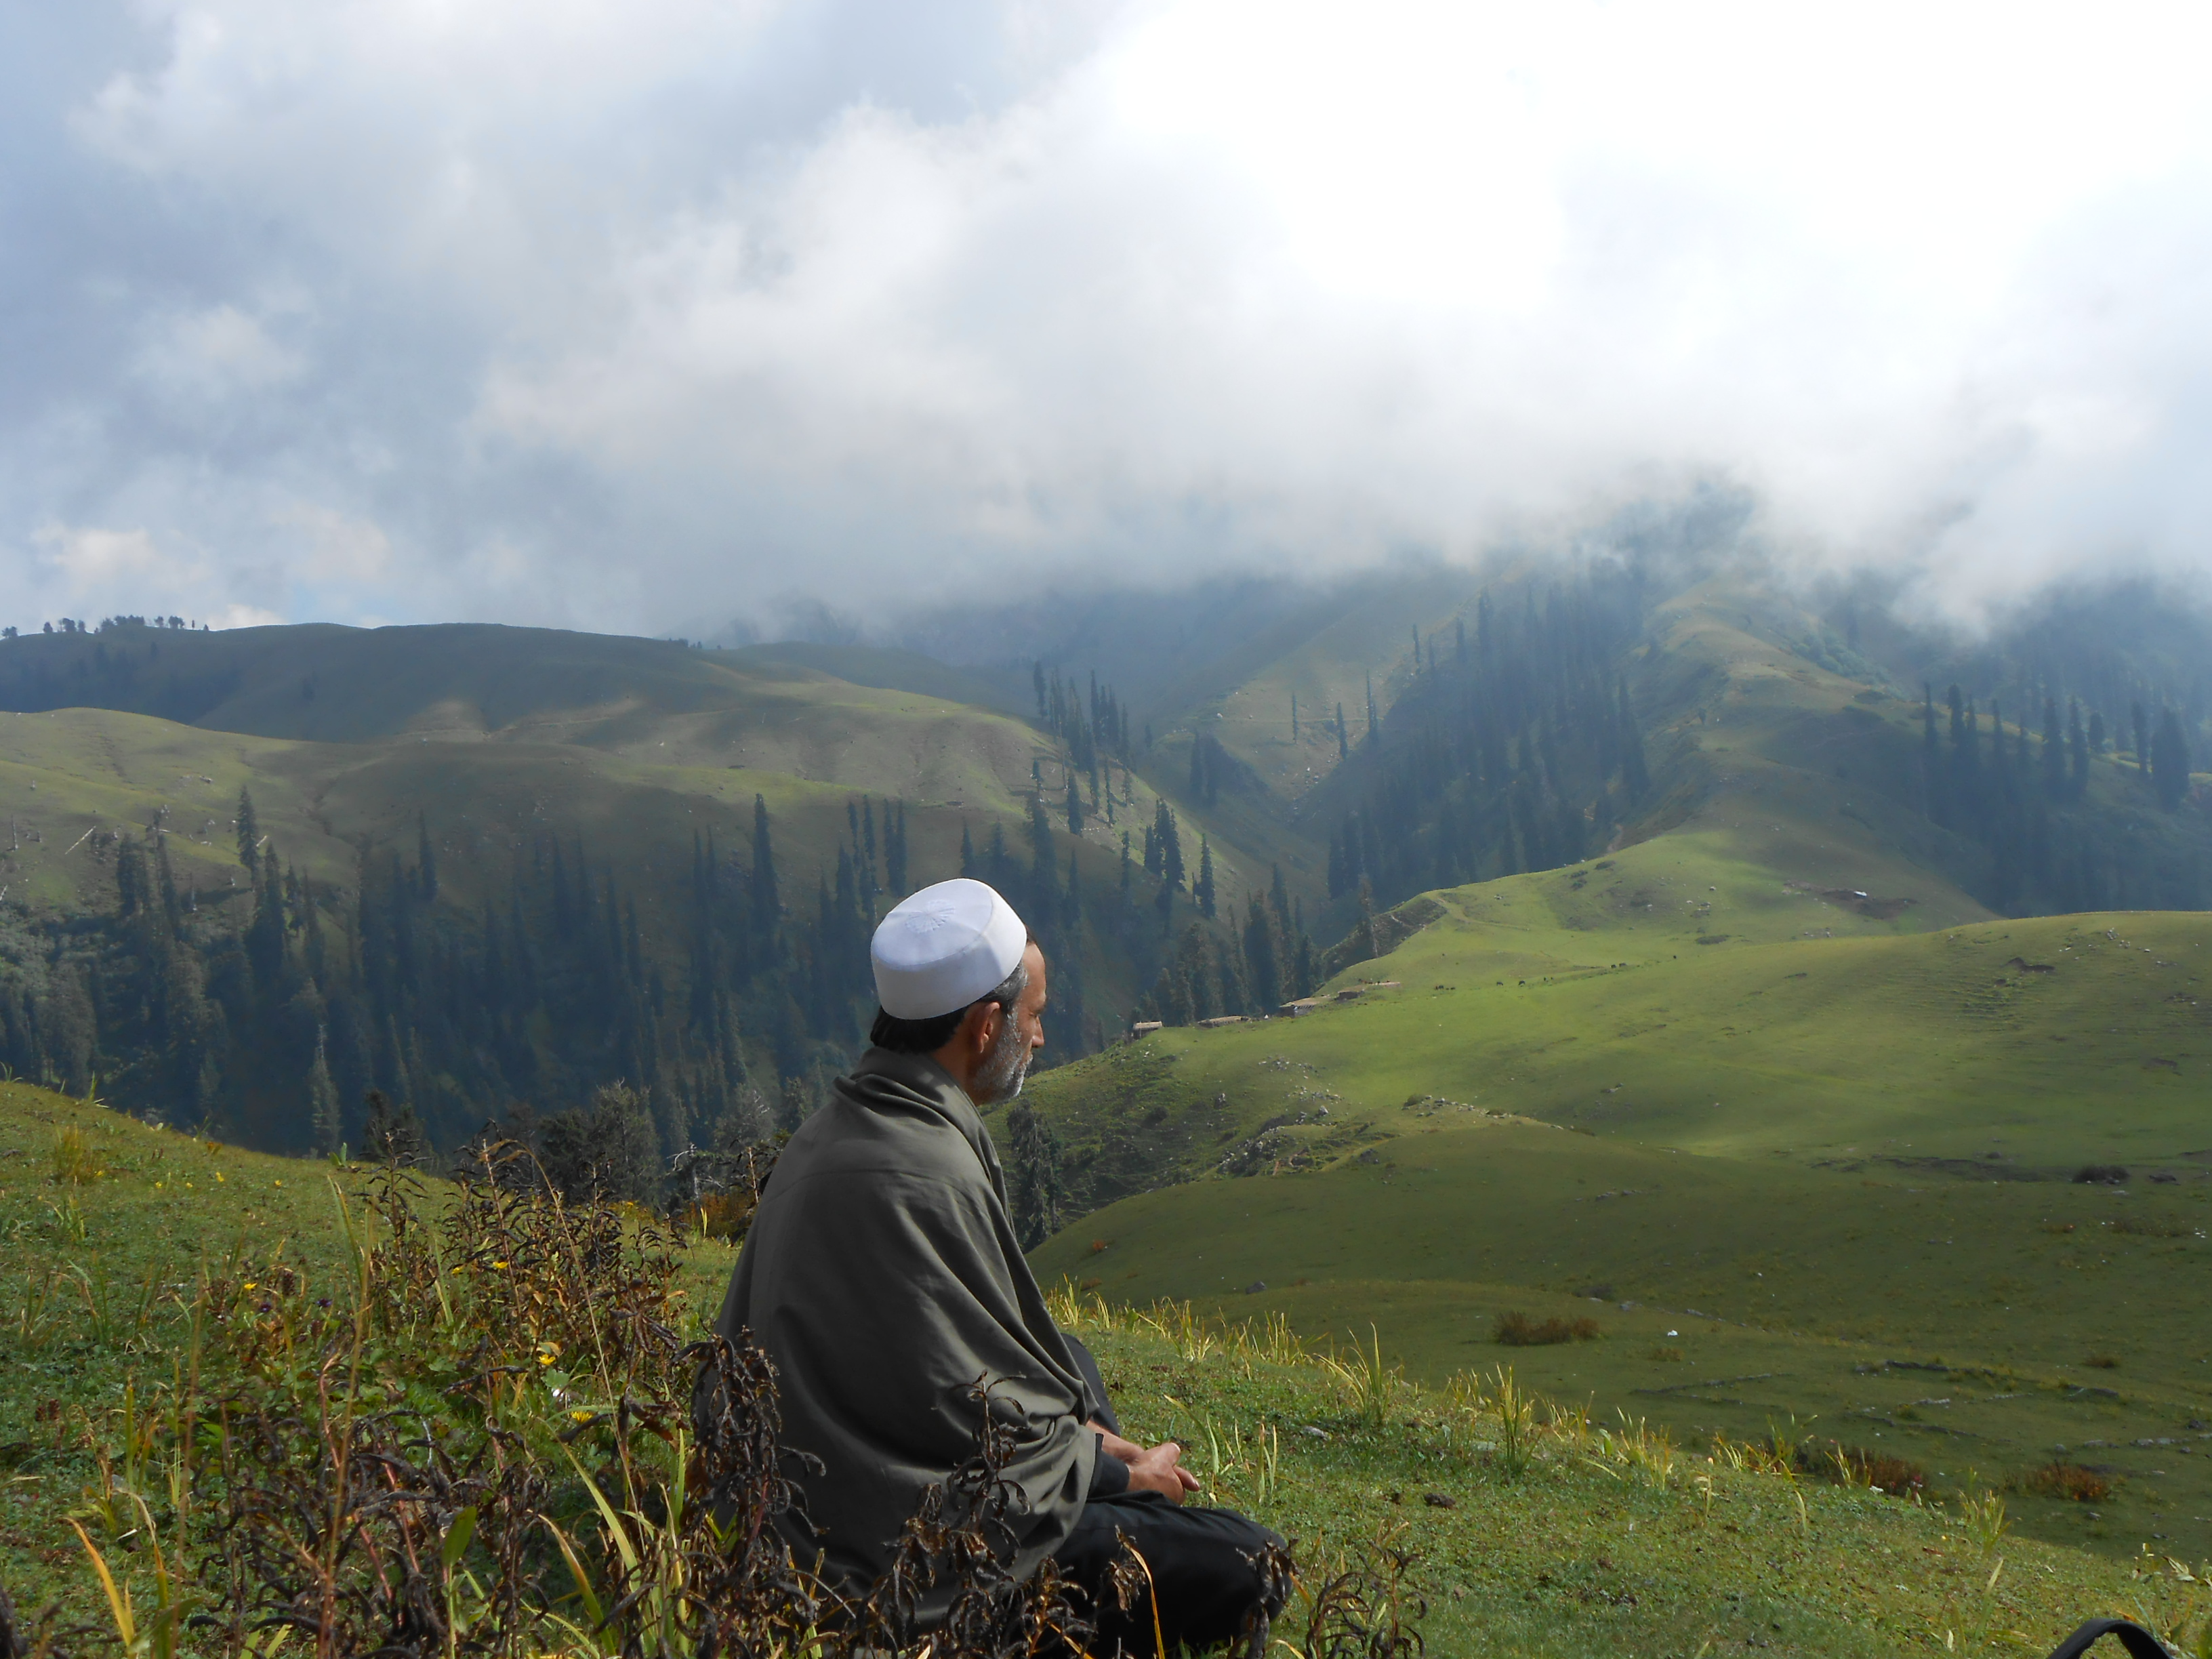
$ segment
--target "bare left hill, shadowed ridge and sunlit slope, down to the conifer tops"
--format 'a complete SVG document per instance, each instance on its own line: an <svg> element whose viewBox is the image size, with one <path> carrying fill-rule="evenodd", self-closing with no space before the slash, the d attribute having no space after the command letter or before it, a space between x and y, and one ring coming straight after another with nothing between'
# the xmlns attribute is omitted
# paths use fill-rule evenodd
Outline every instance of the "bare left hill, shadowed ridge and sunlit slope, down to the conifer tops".
<svg viewBox="0 0 2212 1659"><path fill-rule="evenodd" d="M759 792L790 812L785 856L812 880L836 863L845 803L872 794L920 814L918 867L933 880L958 867L962 827L978 847L991 825L1020 843L1035 768L1051 801L1066 785L1057 748L1029 723L949 701L989 692L911 653L699 653L478 624L31 635L0 644L0 710L18 710L0 714L15 823L0 852L15 896L97 902L69 845L93 823L159 821L206 885L228 887L230 814L252 785L263 830L332 883L352 843L411 841L422 812L456 856L555 832L626 869L655 856L681 869L692 830L717 825L728 843L737 812L750 834ZM1135 796L1117 803L1119 827L1150 823L1155 792L1139 779ZM1110 885L1119 827L1093 807L1093 887ZM1192 830L1212 834L1230 891L1263 885L1281 856L1279 836L1243 849L1234 827Z"/></svg>

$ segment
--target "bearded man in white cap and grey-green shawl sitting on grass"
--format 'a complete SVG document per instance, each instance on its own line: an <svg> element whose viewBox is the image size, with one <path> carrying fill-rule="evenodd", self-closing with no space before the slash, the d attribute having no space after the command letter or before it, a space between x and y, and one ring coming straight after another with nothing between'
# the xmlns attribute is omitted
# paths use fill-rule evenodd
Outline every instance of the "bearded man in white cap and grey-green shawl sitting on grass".
<svg viewBox="0 0 2212 1659"><path fill-rule="evenodd" d="M821 1460L801 1562L860 1595L891 1562L922 1493L975 1455L978 1380L1013 1429L1004 1478L1013 1568L1044 1559L1091 1597L1099 1650L1208 1646L1261 1628L1259 1557L1281 1540L1243 1515L1188 1509L1197 1480L1172 1440L1117 1431L1091 1354L1044 1310L1006 1221L1006 1181L978 1106L1022 1093L1044 1046L1044 953L978 880L907 898L876 929L872 1048L810 1117L761 1194L714 1327L776 1365L783 1442ZM807 1528L807 1520L812 1528ZM1126 1537L1150 1595L1104 1595ZM922 1604L940 1619L951 1586Z"/></svg>

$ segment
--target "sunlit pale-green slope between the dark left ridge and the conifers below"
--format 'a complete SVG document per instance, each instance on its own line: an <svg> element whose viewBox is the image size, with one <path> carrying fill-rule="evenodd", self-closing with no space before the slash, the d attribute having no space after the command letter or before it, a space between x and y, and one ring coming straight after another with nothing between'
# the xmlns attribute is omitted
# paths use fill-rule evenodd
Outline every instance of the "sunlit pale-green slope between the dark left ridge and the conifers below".
<svg viewBox="0 0 2212 1659"><path fill-rule="evenodd" d="M860 790L838 779L841 761L854 776L898 785L887 794L911 787L920 872L958 867L962 827L978 843L989 838L993 823L1018 834L1026 818L1018 790L1029 783L1031 752L1044 752L1024 728L973 710L936 708L916 730L902 730L898 710L880 721L865 719L867 710L847 701L856 688L821 684L827 695L805 703L805 719L823 732L821 779L805 776L796 734L776 739L770 759L783 765L697 763L695 745L681 737L681 717L655 726L679 728L677 757L661 759L670 739L467 748L422 739L305 743L113 710L0 714L0 787L15 843L0 849L7 854L0 880L13 878L11 898L31 905L106 909L113 858L84 832L157 825L179 883L210 898L234 891L243 872L232 814L246 787L285 860L334 885L352 885L363 843L411 852L418 818L429 823L431 843L447 858L447 880L467 902L500 894L511 865L535 838L582 838L593 856L615 860L639 880L648 916L664 922L659 936L675 942L675 883L688 867L692 832L712 830L726 847L745 843L754 794L765 796L776 816L796 891L834 867L845 805ZM799 717L785 721L799 723ZM900 757L898 765L891 754ZM1088 841L1093 880L1104 883L1117 847L1104 832Z"/></svg>

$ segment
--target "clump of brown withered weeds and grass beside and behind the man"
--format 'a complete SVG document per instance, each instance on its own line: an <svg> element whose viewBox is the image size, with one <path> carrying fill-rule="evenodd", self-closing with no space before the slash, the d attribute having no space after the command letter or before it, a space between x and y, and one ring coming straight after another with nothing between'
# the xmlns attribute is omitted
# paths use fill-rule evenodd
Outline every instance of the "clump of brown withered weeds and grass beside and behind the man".
<svg viewBox="0 0 2212 1659"><path fill-rule="evenodd" d="M841 1595L779 1528L803 1458L768 1358L679 1336L675 1239L564 1203L511 1146L467 1175L442 1201L398 1168L338 1194L338 1294L281 1254L210 1267L159 1398L84 1425L97 1480L71 1522L126 1652L1084 1650L1068 1586L1004 1564L1011 1440L982 1389L975 1455L885 1579Z"/></svg>

